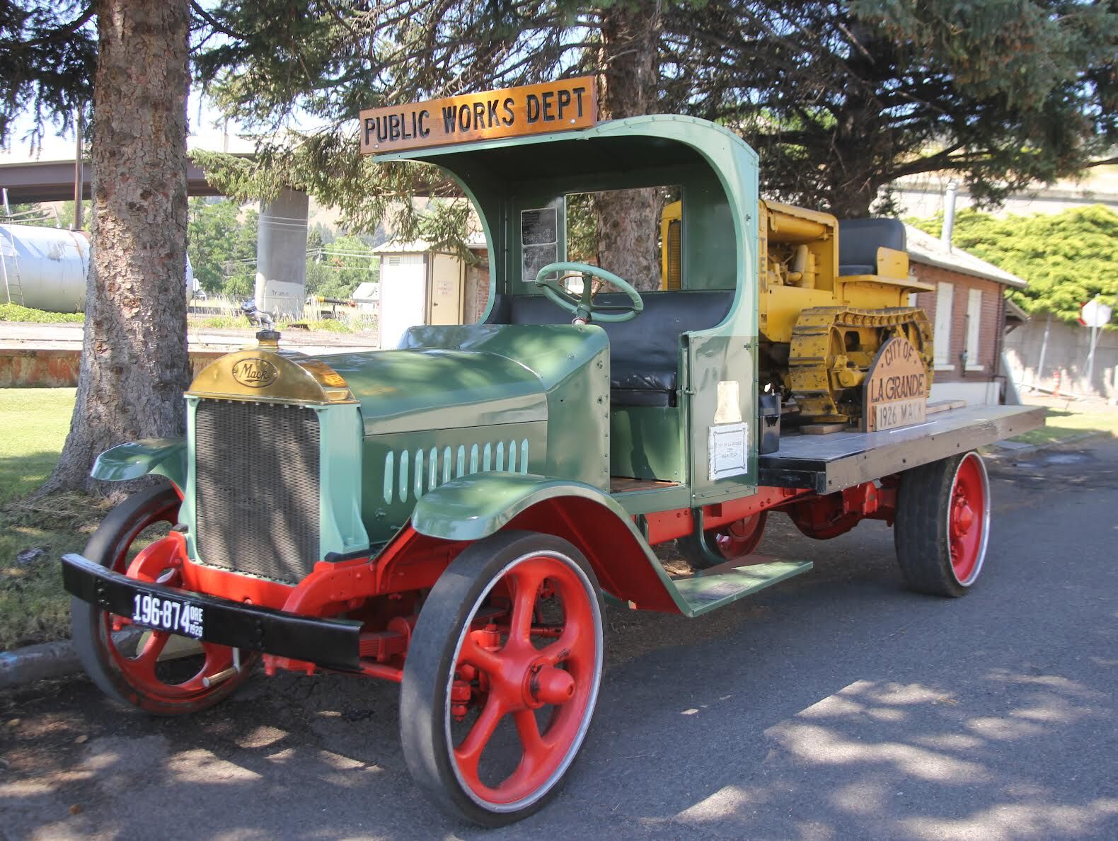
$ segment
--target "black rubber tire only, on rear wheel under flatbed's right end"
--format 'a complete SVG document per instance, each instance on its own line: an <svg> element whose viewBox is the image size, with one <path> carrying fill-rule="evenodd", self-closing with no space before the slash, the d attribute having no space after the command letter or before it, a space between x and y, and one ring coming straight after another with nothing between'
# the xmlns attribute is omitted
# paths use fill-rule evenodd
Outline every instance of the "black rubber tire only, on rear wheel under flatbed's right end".
<svg viewBox="0 0 1118 841"><path fill-rule="evenodd" d="M904 583L917 593L959 598L974 586L974 580L963 585L955 578L948 538L951 486L967 455L948 456L901 473L893 546Z"/></svg>

